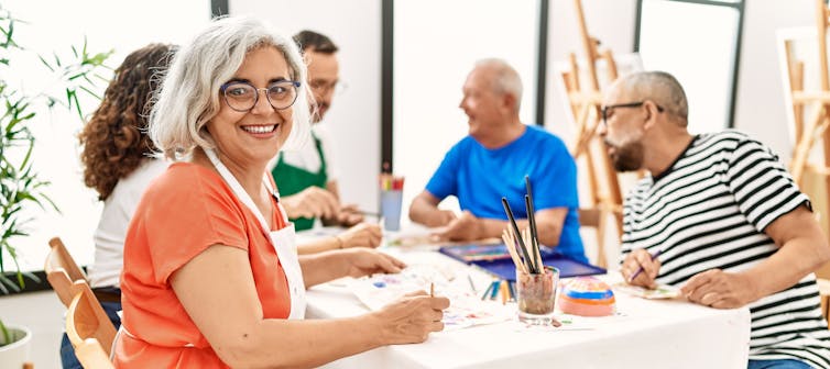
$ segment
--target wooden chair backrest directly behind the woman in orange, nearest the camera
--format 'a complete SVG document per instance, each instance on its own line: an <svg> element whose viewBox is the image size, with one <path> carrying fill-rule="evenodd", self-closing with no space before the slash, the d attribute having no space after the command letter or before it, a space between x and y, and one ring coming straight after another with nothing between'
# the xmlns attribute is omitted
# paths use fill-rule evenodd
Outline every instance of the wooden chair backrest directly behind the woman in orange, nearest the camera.
<svg viewBox="0 0 830 369"><path fill-rule="evenodd" d="M110 361L116 327L85 281L72 286L75 293L66 313L66 335L84 368L113 368Z"/></svg>

